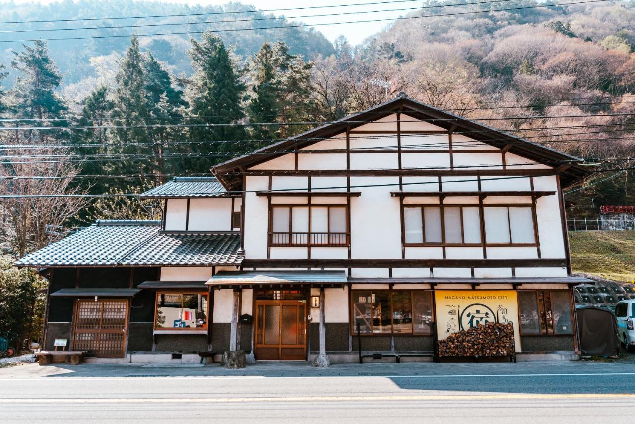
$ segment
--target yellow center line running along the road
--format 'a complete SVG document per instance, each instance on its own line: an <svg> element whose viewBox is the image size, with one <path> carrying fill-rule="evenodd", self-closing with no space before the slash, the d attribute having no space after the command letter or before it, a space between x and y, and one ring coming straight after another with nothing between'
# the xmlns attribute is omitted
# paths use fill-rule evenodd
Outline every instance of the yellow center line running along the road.
<svg viewBox="0 0 635 424"><path fill-rule="evenodd" d="M491 400L635 399L635 394L485 394L485 395L380 395L380 396L291 396L291 397L117 397L0 399L0 404L80 403L240 403L240 402L356 402L356 401L491 401Z"/></svg>

